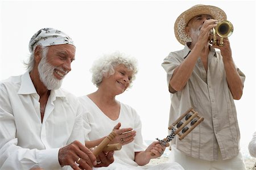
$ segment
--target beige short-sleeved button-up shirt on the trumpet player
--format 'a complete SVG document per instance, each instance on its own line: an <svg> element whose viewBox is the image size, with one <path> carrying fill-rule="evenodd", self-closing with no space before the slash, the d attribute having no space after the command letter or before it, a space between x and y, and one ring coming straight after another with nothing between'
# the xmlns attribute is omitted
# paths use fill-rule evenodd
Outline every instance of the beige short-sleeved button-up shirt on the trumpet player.
<svg viewBox="0 0 256 170"><path fill-rule="evenodd" d="M186 44L183 50L171 52L164 59L162 66L167 72L168 87L175 68L190 51ZM237 70L243 83L245 75ZM171 94L169 124L191 107L204 117L204 121L182 141L175 137L172 144L193 158L217 160L219 148L224 160L236 156L240 141L236 107L226 82L221 53L212 47L208 55L208 71L199 57L183 90Z"/></svg>

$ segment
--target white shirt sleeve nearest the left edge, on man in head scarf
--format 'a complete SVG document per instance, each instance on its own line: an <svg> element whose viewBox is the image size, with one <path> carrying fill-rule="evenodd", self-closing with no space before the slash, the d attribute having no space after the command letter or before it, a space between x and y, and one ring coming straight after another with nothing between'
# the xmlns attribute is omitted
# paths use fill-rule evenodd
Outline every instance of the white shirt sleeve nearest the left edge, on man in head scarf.
<svg viewBox="0 0 256 170"><path fill-rule="evenodd" d="M60 168L59 148L36 150L18 146L14 116L5 87L0 87L0 94L0 169Z"/></svg>

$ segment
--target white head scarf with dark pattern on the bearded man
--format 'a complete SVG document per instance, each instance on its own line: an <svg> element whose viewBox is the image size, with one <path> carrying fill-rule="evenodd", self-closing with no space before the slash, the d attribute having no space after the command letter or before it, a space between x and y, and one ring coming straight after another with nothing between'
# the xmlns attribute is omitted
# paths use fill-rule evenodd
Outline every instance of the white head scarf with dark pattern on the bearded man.
<svg viewBox="0 0 256 170"><path fill-rule="evenodd" d="M42 28L32 36L28 48L32 52L37 45L51 46L60 44L74 45L73 40L66 33L54 28Z"/></svg>

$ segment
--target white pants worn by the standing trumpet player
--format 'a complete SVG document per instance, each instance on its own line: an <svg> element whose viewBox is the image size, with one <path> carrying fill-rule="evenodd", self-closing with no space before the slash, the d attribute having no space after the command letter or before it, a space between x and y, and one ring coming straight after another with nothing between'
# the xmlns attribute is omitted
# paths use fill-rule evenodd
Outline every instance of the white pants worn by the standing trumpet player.
<svg viewBox="0 0 256 170"><path fill-rule="evenodd" d="M169 162L177 162L185 170L246 170L241 152L232 159L222 160L219 151L218 158L216 161L192 158L177 150L176 145L172 145Z"/></svg>

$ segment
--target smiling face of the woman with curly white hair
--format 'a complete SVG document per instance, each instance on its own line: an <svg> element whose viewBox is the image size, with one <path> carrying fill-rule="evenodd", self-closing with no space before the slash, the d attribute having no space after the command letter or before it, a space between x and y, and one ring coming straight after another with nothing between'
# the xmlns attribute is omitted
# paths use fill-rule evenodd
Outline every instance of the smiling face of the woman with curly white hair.
<svg viewBox="0 0 256 170"><path fill-rule="evenodd" d="M113 75L105 76L102 79L100 86L107 86L109 91L113 91L115 95L119 95L130 86L133 71L128 70L122 64L114 67L114 71Z"/></svg>

